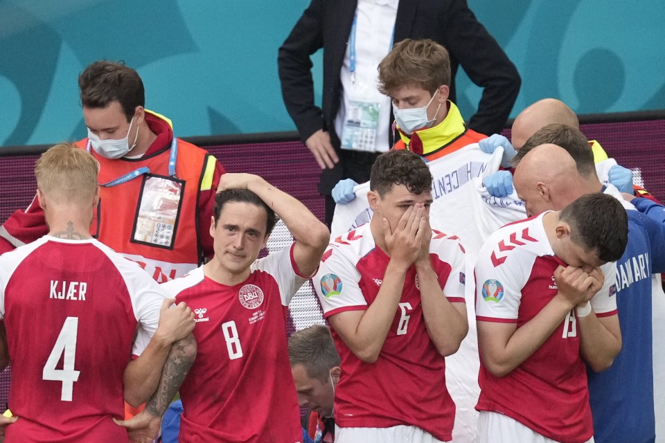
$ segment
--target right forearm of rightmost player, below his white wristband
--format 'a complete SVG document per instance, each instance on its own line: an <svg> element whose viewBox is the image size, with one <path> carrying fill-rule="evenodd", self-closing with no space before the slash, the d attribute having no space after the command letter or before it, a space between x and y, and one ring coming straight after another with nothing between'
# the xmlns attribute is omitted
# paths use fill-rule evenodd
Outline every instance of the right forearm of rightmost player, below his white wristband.
<svg viewBox="0 0 665 443"><path fill-rule="evenodd" d="M591 314L578 317L580 329L580 354L589 366L600 372L610 368L621 351L619 317L598 318Z"/></svg>

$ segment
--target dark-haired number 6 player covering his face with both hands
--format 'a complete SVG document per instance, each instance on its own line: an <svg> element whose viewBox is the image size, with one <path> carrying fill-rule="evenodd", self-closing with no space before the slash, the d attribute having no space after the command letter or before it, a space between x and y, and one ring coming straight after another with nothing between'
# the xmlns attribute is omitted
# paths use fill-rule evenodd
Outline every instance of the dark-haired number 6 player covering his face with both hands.
<svg viewBox="0 0 665 443"><path fill-rule="evenodd" d="M323 254L314 288L342 357L335 442L450 441L444 357L468 331L465 255L429 226L432 174L420 156L375 161L364 224Z"/></svg>

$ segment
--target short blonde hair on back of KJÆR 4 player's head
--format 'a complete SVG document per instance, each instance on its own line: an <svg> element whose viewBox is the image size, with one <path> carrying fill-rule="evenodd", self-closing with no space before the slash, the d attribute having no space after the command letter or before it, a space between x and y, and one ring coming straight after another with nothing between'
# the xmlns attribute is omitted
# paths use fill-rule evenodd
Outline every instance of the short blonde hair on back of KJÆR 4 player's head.
<svg viewBox="0 0 665 443"><path fill-rule="evenodd" d="M35 165L37 189L55 203L89 204L98 188L99 163L71 143L44 152Z"/></svg>

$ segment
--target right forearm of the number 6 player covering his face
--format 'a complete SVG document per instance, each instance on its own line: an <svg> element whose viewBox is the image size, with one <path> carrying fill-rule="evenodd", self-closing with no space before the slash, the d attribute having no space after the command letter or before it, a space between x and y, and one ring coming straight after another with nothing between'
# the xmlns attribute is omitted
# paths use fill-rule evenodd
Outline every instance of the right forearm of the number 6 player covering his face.
<svg viewBox="0 0 665 443"><path fill-rule="evenodd" d="M432 266L423 268L416 266L416 269L418 269L420 302L427 334L439 354L443 356L454 354L469 331L465 305L453 304L445 298ZM456 305L461 307L458 309Z"/></svg>

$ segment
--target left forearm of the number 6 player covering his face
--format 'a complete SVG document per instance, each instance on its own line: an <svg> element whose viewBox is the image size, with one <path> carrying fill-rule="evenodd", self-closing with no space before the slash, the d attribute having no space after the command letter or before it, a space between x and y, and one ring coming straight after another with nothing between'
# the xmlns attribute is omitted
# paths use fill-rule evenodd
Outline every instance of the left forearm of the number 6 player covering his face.
<svg viewBox="0 0 665 443"><path fill-rule="evenodd" d="M375 300L364 312L355 334L347 343L362 361L374 363L386 341L398 309L407 269L389 262Z"/></svg>

